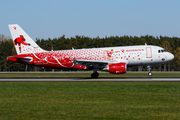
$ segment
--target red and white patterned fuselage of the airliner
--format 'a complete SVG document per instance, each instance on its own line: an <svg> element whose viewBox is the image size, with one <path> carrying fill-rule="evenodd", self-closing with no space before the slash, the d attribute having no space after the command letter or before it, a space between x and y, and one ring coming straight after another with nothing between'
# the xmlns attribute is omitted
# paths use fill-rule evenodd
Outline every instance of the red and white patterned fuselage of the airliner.
<svg viewBox="0 0 180 120"><path fill-rule="evenodd" d="M164 49L152 45L73 49L14 55L8 60L52 68L73 68L78 61L153 65L168 62L174 58L171 53L161 52L162 50Z"/></svg>

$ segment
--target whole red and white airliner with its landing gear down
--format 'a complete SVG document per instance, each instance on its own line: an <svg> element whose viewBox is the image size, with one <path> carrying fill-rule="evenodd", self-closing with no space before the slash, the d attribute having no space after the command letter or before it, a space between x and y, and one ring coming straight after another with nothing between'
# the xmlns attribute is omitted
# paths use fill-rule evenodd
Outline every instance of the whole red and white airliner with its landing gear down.
<svg viewBox="0 0 180 120"><path fill-rule="evenodd" d="M113 74L126 73L127 65L150 65L169 62L174 55L164 48L153 45L71 49L46 51L41 49L17 24L9 25L17 55L7 59L13 62L50 68L93 69L91 78L99 76L97 71Z"/></svg>

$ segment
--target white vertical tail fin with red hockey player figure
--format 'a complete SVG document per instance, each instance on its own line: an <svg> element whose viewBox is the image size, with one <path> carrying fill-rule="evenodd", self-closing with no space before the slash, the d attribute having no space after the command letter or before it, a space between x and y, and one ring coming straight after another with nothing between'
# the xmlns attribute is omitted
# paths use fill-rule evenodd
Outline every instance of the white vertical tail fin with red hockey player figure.
<svg viewBox="0 0 180 120"><path fill-rule="evenodd" d="M34 40L18 25L10 24L9 30L16 48L17 54L35 53L44 51Z"/></svg>

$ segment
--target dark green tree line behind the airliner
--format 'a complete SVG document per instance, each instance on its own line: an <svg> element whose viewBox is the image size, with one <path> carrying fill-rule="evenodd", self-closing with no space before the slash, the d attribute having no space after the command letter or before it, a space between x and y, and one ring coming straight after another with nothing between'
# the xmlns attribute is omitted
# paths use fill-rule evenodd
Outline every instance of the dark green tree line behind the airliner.
<svg viewBox="0 0 180 120"><path fill-rule="evenodd" d="M101 48L114 46L130 46L130 45L156 45L161 46L168 52L174 54L175 58L169 63L163 65L153 65L152 70L156 71L179 71L180 70L180 38L159 36L110 36L104 38L90 38L86 36L75 36L66 38L62 35L54 39L36 39L36 43L45 50L66 50L66 49L81 49L81 48ZM24 71L24 70L41 70L41 68L14 63L7 61L7 57L15 55L16 51L13 45L13 40L0 34L0 71ZM132 66L129 70L146 70L146 66Z"/></svg>

